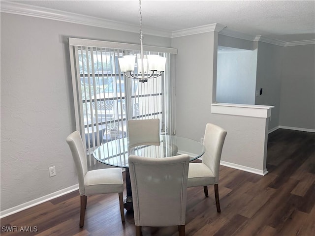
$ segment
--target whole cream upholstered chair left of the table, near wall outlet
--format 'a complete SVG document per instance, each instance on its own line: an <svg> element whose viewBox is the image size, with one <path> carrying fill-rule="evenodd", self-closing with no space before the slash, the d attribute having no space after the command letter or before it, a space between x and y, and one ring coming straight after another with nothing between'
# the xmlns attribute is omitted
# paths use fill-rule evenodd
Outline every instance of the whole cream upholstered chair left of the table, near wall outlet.
<svg viewBox="0 0 315 236"><path fill-rule="evenodd" d="M125 222L123 191L124 181L121 168L109 168L88 171L86 148L79 131L67 138L79 178L80 227L84 225L85 208L88 196L105 193L118 193L122 222Z"/></svg>

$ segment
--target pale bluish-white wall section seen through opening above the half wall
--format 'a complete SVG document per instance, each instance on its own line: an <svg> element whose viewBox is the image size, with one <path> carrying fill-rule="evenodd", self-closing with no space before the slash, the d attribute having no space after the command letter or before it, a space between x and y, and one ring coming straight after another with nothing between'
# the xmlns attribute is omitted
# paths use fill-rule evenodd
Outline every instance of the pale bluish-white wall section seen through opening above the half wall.
<svg viewBox="0 0 315 236"><path fill-rule="evenodd" d="M257 50L218 51L217 102L255 104Z"/></svg>

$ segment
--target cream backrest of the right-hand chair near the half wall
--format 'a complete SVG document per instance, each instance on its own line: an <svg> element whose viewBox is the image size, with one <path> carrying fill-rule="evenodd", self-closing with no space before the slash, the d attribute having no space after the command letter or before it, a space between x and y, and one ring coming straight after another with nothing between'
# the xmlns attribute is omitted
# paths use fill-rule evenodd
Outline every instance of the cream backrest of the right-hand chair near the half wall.
<svg viewBox="0 0 315 236"><path fill-rule="evenodd" d="M206 148L202 155L202 163L206 164L213 172L216 183L219 182L219 169L221 153L226 136L226 131L220 126L207 123L203 145Z"/></svg>

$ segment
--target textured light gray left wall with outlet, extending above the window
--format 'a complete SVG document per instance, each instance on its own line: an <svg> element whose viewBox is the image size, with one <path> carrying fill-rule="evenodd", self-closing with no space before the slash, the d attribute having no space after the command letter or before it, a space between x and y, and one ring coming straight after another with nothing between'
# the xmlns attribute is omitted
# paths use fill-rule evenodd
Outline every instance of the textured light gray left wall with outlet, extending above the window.
<svg viewBox="0 0 315 236"><path fill-rule="evenodd" d="M65 142L75 130L67 38L139 44L139 34L1 13L0 36L3 211L78 182ZM144 43L171 40L145 35Z"/></svg>

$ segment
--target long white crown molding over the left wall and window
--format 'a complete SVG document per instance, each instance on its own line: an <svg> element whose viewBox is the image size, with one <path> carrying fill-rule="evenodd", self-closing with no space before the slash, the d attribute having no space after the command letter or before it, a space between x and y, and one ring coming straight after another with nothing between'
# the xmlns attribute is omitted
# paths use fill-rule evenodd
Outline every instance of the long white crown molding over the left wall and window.
<svg viewBox="0 0 315 236"><path fill-rule="evenodd" d="M91 16L79 15L66 11L54 10L45 7L30 6L27 4L17 2L1 1L0 11L10 14L32 16L55 21L63 21L74 24L139 33L139 26L120 23L116 21L104 20ZM145 27L143 28L143 31L145 32L145 34L149 35L171 37L171 33L167 31L154 30Z"/></svg>

